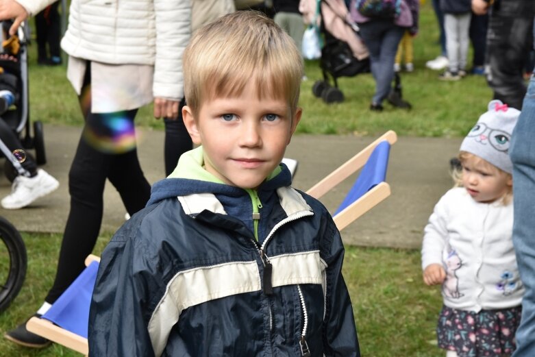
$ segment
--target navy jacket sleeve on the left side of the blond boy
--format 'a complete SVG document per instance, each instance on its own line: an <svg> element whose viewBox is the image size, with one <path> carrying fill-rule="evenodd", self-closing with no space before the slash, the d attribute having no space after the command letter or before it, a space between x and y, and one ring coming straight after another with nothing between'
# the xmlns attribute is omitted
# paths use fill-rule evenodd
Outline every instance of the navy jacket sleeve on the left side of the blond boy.
<svg viewBox="0 0 535 357"><path fill-rule="evenodd" d="M132 242L115 236L103 251L89 313L89 356L154 356L147 330L153 286L142 278L140 270L147 269L135 259Z"/></svg>

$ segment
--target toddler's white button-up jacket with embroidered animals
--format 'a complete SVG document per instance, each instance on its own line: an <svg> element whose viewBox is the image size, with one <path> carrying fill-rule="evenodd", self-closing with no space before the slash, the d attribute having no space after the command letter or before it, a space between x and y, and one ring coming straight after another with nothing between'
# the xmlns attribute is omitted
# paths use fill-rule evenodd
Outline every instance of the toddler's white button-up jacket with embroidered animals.
<svg viewBox="0 0 535 357"><path fill-rule="evenodd" d="M480 204L464 188L440 198L425 226L422 269L433 263L445 267L446 306L478 312L521 304L512 222L512 203Z"/></svg>

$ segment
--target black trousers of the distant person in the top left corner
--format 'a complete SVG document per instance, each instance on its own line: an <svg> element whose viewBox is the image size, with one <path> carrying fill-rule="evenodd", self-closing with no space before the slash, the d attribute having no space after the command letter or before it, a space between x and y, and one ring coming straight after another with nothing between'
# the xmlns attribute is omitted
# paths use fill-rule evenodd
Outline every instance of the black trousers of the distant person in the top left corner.
<svg viewBox="0 0 535 357"><path fill-rule="evenodd" d="M58 12L59 4L60 1L56 1L35 16L39 60L49 58L47 45L50 56L60 57L61 18Z"/></svg>

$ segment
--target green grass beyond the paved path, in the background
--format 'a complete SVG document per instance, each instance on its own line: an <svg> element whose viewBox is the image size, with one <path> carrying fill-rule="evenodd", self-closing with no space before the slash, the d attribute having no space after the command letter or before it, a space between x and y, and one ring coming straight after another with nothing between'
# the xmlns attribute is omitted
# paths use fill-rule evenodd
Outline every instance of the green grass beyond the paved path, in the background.
<svg viewBox="0 0 535 357"><path fill-rule="evenodd" d="M322 79L319 62L306 61L308 80L301 86L303 119L297 134L375 136L391 129L401 136L464 136L486 110L492 93L482 76L468 76L459 82L439 81L438 72L425 68L425 62L440 53L436 43L438 28L430 5L421 10L420 28L414 38L416 70L402 73L403 97L412 103L413 110L385 104L384 112L371 112L368 108L375 84L369 73L340 78L345 101L327 105L312 95L312 85ZM29 59L32 118L45 123L81 125L77 96L66 80L65 66L36 66L34 47ZM162 128L162 122L153 119L151 106L140 110L136 122Z"/></svg>

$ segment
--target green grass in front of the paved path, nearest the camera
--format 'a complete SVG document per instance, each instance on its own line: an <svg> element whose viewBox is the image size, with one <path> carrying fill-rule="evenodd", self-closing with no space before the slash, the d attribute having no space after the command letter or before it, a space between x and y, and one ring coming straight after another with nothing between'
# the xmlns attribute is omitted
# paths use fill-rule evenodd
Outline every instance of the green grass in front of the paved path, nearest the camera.
<svg viewBox="0 0 535 357"><path fill-rule="evenodd" d="M101 236L100 254L110 236ZM21 293L0 314L0 334L27 319L52 285L60 234L23 234L28 271ZM347 247L344 275L356 317L362 356L443 356L432 344L440 293L421 281L418 251ZM431 341L431 342L430 342ZM42 350L18 347L0 338L0 357L79 356L52 345Z"/></svg>

